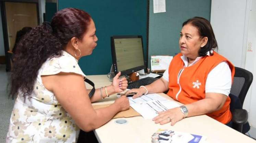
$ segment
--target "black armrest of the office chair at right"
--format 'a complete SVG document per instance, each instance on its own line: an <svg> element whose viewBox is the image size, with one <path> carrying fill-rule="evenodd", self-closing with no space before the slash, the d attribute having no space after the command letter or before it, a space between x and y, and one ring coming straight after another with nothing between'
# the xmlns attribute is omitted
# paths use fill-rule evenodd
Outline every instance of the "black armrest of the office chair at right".
<svg viewBox="0 0 256 143"><path fill-rule="evenodd" d="M248 112L245 109L235 109L232 112L233 123L243 125L248 120Z"/></svg>

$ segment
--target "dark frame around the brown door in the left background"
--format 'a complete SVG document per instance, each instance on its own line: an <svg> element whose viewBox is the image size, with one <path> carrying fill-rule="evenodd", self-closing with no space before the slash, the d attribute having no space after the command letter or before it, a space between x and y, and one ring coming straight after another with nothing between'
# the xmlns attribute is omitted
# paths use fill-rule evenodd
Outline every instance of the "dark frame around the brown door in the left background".
<svg viewBox="0 0 256 143"><path fill-rule="evenodd" d="M9 47L9 40L8 40L7 18L6 18L5 4L4 4L5 2L36 3L38 25L40 23L40 19L39 19L38 0L0 0L2 27L3 27L3 43L4 43L4 53L5 53L5 61L6 61L5 70L6 72L10 72L11 56L10 56L10 53L8 53L8 51L10 50L10 47Z"/></svg>

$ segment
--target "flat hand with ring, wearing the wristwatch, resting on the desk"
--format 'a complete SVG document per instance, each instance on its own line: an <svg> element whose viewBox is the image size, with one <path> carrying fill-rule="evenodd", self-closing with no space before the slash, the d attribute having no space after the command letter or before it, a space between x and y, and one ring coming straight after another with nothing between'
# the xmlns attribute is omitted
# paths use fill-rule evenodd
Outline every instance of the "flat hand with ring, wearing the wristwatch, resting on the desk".
<svg viewBox="0 0 256 143"><path fill-rule="evenodd" d="M173 126L176 122L182 120L185 115L181 112L180 107L172 108L167 111L159 112L159 115L153 118L156 124L161 125L171 122Z"/></svg>

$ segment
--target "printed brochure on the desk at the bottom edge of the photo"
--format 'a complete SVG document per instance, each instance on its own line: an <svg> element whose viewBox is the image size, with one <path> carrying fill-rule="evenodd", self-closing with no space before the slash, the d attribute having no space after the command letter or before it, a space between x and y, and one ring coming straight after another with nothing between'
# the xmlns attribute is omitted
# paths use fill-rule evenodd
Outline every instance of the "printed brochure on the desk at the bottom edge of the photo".
<svg viewBox="0 0 256 143"><path fill-rule="evenodd" d="M205 143L206 137L186 132L159 129L152 137L152 143Z"/></svg>

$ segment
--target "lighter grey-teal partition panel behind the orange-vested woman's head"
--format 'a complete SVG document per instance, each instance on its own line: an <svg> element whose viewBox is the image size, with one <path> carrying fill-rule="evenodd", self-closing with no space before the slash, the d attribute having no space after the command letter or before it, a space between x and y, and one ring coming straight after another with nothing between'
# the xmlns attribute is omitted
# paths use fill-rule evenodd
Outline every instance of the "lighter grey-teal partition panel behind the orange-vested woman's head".
<svg viewBox="0 0 256 143"><path fill-rule="evenodd" d="M180 52L179 34L184 21L195 16L210 20L211 0L166 0L166 13L156 14L153 0L149 3L149 61L151 55L173 56Z"/></svg>

